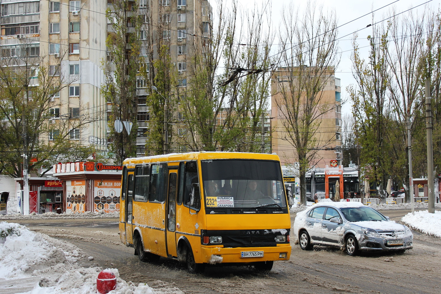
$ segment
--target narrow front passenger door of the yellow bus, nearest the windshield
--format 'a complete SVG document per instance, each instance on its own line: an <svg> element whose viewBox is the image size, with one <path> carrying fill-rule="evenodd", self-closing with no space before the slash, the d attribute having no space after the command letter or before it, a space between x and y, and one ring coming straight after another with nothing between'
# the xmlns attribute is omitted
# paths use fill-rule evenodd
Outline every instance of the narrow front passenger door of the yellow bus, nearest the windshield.
<svg viewBox="0 0 441 294"><path fill-rule="evenodd" d="M172 170L168 176L168 197L167 197L167 255L177 257L176 251L176 183L177 173Z"/></svg>

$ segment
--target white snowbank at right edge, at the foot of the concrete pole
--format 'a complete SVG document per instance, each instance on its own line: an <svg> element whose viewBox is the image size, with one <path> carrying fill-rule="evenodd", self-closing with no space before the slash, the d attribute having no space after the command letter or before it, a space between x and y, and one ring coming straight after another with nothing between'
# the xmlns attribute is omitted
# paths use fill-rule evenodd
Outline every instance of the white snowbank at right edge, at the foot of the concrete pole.
<svg viewBox="0 0 441 294"><path fill-rule="evenodd" d="M429 213L427 210L416 211L414 215L411 212L403 216L402 222L414 230L419 230L424 234L441 237L441 211Z"/></svg>

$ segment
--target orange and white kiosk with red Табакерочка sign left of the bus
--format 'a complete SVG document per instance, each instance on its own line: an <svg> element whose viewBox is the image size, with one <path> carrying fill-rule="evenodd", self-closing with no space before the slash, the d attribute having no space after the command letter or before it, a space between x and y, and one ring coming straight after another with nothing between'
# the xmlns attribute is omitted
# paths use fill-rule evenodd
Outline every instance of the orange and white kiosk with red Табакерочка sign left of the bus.
<svg viewBox="0 0 441 294"><path fill-rule="evenodd" d="M54 165L63 182L63 211L119 212L122 166L93 162Z"/></svg>

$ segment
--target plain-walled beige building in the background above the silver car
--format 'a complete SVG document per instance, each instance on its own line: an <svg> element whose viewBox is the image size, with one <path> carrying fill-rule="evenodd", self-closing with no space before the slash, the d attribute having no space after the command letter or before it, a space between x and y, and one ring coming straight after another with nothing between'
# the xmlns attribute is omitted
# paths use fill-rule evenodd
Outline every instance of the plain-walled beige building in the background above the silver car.
<svg viewBox="0 0 441 294"><path fill-rule="evenodd" d="M289 71L286 67L278 68L273 73L271 82L271 91L273 96L271 98L271 145L272 151L280 156L282 165L295 164L298 162L296 151L292 145L284 139L285 128L284 120L286 116L284 111L280 111L277 107L277 102L281 104L283 99L283 92L289 94L289 81L292 77L292 72L296 71L297 67L293 67ZM324 90L318 95L321 96L319 105L316 109L327 108L328 111L320 115L317 122L319 123L318 130L315 132L314 139L315 146L311 148L311 153L316 153L312 156L314 159L310 162L310 166L324 168L326 165L338 166L342 160L341 150L341 105L340 105L340 79L336 78L334 72L326 74L323 78L326 82ZM284 90L283 90L284 89Z"/></svg>

